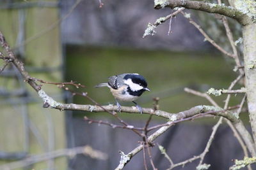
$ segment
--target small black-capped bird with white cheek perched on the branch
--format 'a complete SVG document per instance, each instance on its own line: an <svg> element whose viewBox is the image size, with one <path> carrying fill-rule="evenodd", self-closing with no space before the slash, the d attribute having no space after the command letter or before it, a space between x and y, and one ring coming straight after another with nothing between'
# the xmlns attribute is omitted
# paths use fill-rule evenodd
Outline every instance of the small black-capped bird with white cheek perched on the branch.
<svg viewBox="0 0 256 170"><path fill-rule="evenodd" d="M121 112L121 105L119 101L131 101L136 104L136 108L142 113L142 108L135 100L143 94L143 92L150 89L147 87L147 81L138 73L124 73L115 76L110 76L107 83L99 83L97 87L108 87L110 92L115 97L118 111Z"/></svg>

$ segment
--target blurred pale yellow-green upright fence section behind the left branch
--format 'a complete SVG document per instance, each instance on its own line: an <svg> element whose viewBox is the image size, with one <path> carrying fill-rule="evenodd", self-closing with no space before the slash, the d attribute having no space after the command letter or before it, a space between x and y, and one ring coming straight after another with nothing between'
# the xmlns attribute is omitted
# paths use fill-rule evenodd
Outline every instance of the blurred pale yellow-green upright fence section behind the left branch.
<svg viewBox="0 0 256 170"><path fill-rule="evenodd" d="M45 81L62 81L60 29L56 24L59 4L57 0L0 2L0 30L31 76ZM54 99L63 99L58 88L44 85L43 89ZM0 107L0 164L65 148L63 112L43 108L12 65L0 74ZM45 160L27 168L65 169L65 159Z"/></svg>

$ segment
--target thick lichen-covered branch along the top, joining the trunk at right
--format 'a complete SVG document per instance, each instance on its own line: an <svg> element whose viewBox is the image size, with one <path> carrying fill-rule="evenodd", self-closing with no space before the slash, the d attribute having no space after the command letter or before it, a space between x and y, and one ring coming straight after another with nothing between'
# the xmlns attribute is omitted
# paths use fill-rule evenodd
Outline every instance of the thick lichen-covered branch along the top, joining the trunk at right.
<svg viewBox="0 0 256 170"><path fill-rule="evenodd" d="M203 1L189 1L189 0L155 0L155 9L161 9L164 7L175 8L184 7L191 10L200 10L207 13L218 13L230 18L234 18L242 25L248 25L252 23L252 20L248 15L241 13L230 6L221 4L205 3Z"/></svg>

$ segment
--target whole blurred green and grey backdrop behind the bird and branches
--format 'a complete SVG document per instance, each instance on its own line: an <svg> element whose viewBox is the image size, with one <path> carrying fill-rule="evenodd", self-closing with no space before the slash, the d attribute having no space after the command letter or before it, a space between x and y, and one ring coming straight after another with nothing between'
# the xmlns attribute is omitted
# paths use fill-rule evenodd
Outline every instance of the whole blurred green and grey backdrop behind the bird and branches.
<svg viewBox="0 0 256 170"><path fill-rule="evenodd" d="M104 0L102 3L100 8L98 0L2 0L0 31L31 76L53 82L77 81L86 87L74 90L88 92L88 96L102 105L113 104L114 99L108 88L93 87L115 74L142 74L151 92L145 92L138 103L152 107L152 99L160 97L160 109L170 113L209 104L205 99L186 94L184 87L201 92L211 87L227 89L236 78L233 61L204 41L204 36L181 15L172 18L169 36L169 22L166 22L157 27L156 35L142 38L148 22L154 23L172 10L154 10L154 1L147 0ZM218 16L205 13L192 13L192 16L211 38L230 50ZM232 20L230 25L234 39L238 39L240 27ZM42 100L12 66L4 69L0 76L0 167L115 169L120 160L118 150L129 153L141 141L126 129L88 124L83 120L86 115L118 124L107 113L43 108ZM56 101L93 104L54 85L44 85L43 89ZM232 97L230 105L236 105L242 97ZM222 106L225 96L214 99ZM133 106L132 103L122 105ZM243 117L248 120L246 114ZM143 127L148 116L120 113L120 118ZM204 150L217 120L205 118L177 124L155 143L163 145L174 162L186 160ZM163 122L162 118L154 117L150 125ZM108 159L98 160L83 154L68 157L65 152L51 156L65 148L85 145L108 154ZM152 148L152 152L157 168L168 168L169 163L158 148ZM28 156L44 153L51 154L44 155L44 159L35 164L22 162ZM242 158L243 151L236 138L227 125L221 125L205 163L211 164L209 169L228 169L232 159ZM197 164L195 161L184 169L195 169ZM124 169L145 169L142 152Z"/></svg>

